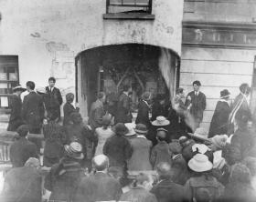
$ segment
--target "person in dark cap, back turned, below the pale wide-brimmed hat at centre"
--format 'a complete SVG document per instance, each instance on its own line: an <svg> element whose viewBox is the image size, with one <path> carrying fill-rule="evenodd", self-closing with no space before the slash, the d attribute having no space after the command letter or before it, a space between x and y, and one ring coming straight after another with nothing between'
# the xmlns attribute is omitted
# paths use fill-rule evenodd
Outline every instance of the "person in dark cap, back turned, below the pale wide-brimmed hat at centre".
<svg viewBox="0 0 256 202"><path fill-rule="evenodd" d="M150 157L150 162L154 170L156 170L156 166L160 162L166 162L169 165L171 165L172 162L169 145L165 141L168 131L165 130L165 128L158 128L156 132L156 139L158 143L153 147Z"/></svg>

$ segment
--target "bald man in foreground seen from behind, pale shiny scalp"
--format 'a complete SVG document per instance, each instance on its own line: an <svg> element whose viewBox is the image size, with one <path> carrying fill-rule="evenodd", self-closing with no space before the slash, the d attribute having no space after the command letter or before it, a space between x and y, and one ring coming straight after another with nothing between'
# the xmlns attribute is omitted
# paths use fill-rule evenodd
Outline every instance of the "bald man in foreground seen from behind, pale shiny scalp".
<svg viewBox="0 0 256 202"><path fill-rule="evenodd" d="M118 201L122 194L119 182L108 173L109 159L104 155L92 159L95 174L80 181L74 202Z"/></svg>

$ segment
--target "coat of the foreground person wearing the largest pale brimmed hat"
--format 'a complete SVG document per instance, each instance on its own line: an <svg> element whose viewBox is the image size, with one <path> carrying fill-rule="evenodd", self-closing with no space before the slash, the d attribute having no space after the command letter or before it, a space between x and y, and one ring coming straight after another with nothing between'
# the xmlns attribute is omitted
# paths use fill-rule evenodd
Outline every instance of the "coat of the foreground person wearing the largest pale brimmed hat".
<svg viewBox="0 0 256 202"><path fill-rule="evenodd" d="M197 199L198 188L208 189L210 198L213 200L218 199L224 192L223 185L221 185L215 177L206 177L205 175L200 177L191 177L187 180L185 185L185 193L189 201L193 202L193 197Z"/></svg>

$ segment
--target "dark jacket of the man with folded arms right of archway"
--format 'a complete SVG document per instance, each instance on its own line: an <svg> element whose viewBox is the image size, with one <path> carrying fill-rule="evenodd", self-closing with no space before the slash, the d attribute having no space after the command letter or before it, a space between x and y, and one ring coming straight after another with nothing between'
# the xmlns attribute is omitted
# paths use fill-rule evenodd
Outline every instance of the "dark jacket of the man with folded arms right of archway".
<svg viewBox="0 0 256 202"><path fill-rule="evenodd" d="M207 106L206 96L199 91L198 96L195 95L195 91L190 92L187 97L191 97L191 101L186 99L186 106L192 104L190 108L190 114L195 117L199 122L203 120L204 110Z"/></svg>

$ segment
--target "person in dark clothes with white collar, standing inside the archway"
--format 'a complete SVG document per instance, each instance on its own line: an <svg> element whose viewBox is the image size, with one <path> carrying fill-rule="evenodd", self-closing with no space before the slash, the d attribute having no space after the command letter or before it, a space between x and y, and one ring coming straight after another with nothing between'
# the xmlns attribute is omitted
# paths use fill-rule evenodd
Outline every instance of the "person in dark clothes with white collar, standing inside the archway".
<svg viewBox="0 0 256 202"><path fill-rule="evenodd" d="M150 100L150 93L145 92L138 106L138 115L135 124L144 124L147 128L151 125L149 120L150 106L148 101Z"/></svg>

